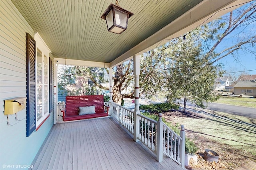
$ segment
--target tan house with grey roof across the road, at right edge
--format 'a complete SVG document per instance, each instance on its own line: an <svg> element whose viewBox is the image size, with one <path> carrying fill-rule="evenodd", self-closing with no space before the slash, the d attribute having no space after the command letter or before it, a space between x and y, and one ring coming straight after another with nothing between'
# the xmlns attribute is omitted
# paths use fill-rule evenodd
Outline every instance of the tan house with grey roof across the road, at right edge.
<svg viewBox="0 0 256 170"><path fill-rule="evenodd" d="M249 95L256 96L256 82L252 81L240 81L234 85L235 95Z"/></svg>

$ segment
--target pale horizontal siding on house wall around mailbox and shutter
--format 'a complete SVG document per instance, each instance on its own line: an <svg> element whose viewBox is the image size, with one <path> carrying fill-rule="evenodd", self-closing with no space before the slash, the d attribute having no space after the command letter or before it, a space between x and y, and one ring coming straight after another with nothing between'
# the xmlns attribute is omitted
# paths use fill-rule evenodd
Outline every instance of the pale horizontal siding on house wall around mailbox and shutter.
<svg viewBox="0 0 256 170"><path fill-rule="evenodd" d="M26 109L4 115L4 100L26 97L26 32L34 36L10 0L0 0L0 169L9 165L30 165L53 125L53 113L45 123L26 137ZM15 165L15 166L13 166ZM9 166L9 167L10 167Z"/></svg>

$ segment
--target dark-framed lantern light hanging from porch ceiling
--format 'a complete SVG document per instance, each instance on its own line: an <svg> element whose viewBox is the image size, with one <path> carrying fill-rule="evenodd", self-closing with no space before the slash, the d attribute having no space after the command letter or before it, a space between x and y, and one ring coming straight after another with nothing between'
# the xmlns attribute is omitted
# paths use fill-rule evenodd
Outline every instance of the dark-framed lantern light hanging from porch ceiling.
<svg viewBox="0 0 256 170"><path fill-rule="evenodd" d="M106 20L109 32L121 34L127 29L128 18L132 15L133 13L118 6L116 0L116 5L110 4L100 18Z"/></svg>

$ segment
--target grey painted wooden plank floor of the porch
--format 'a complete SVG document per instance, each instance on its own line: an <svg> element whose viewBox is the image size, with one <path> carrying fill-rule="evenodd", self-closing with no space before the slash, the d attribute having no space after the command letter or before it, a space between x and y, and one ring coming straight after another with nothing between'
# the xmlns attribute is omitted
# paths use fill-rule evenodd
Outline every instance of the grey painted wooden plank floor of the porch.
<svg viewBox="0 0 256 170"><path fill-rule="evenodd" d="M163 162L111 118L58 123L38 152L40 170L181 170L170 158Z"/></svg>

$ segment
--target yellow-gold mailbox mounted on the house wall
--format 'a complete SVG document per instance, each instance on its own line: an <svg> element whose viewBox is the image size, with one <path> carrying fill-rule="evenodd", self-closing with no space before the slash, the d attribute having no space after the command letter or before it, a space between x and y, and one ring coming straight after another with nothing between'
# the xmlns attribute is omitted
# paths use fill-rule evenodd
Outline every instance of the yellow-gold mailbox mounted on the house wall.
<svg viewBox="0 0 256 170"><path fill-rule="evenodd" d="M26 97L16 97L4 101L4 115L12 115L26 107Z"/></svg>

